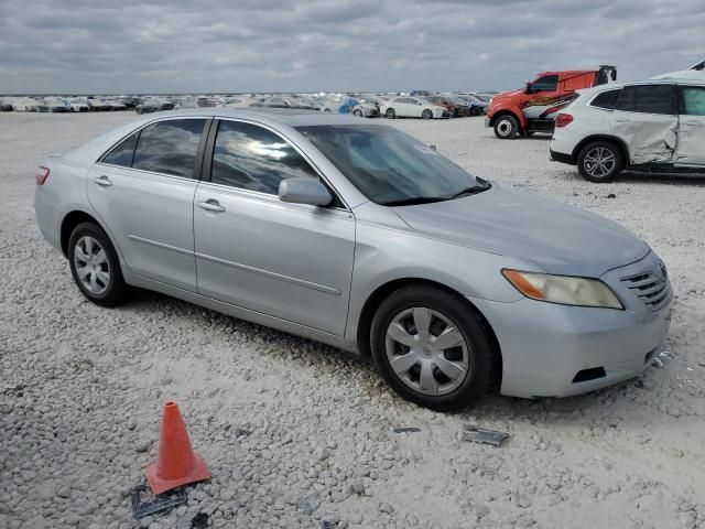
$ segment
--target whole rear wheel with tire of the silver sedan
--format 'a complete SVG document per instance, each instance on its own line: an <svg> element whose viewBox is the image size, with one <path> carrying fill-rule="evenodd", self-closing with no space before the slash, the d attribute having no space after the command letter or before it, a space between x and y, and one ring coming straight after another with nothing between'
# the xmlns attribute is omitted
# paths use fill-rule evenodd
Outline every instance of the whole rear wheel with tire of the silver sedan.
<svg viewBox="0 0 705 529"><path fill-rule="evenodd" d="M80 292L98 305L120 303L128 287L120 260L106 233L93 223L82 223L68 240L68 262Z"/></svg>

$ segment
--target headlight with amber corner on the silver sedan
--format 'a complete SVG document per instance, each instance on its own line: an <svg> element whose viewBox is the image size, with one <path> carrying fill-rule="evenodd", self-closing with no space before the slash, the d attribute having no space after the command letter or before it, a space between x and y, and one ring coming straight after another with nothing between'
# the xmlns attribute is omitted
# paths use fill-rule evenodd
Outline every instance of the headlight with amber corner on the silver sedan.
<svg viewBox="0 0 705 529"><path fill-rule="evenodd" d="M623 309L609 287L598 279L502 270L502 276L527 298L549 303Z"/></svg>

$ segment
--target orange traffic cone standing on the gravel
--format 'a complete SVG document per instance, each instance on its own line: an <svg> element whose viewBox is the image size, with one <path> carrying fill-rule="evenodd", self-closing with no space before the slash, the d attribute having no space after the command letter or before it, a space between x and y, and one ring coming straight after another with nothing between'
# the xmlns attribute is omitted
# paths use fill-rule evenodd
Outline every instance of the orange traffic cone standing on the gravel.
<svg viewBox="0 0 705 529"><path fill-rule="evenodd" d="M164 404L156 464L145 466L144 475L155 495L210 478L210 471L191 447L176 402Z"/></svg>

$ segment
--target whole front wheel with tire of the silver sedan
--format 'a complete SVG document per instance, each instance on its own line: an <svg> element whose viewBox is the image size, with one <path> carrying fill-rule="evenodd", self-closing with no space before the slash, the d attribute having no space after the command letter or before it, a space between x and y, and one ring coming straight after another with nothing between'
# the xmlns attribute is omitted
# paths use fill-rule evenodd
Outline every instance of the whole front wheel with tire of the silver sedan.
<svg viewBox="0 0 705 529"><path fill-rule="evenodd" d="M413 285L384 300L372 320L377 368L403 398L436 410L467 407L492 380L492 349L465 300Z"/></svg>

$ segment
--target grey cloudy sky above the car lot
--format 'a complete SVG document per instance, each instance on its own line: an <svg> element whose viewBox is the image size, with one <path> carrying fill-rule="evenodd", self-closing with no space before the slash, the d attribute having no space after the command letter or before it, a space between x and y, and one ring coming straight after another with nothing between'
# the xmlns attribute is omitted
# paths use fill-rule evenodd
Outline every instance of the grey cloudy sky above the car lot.
<svg viewBox="0 0 705 529"><path fill-rule="evenodd" d="M0 0L0 94L503 90L703 58L704 0Z"/></svg>

